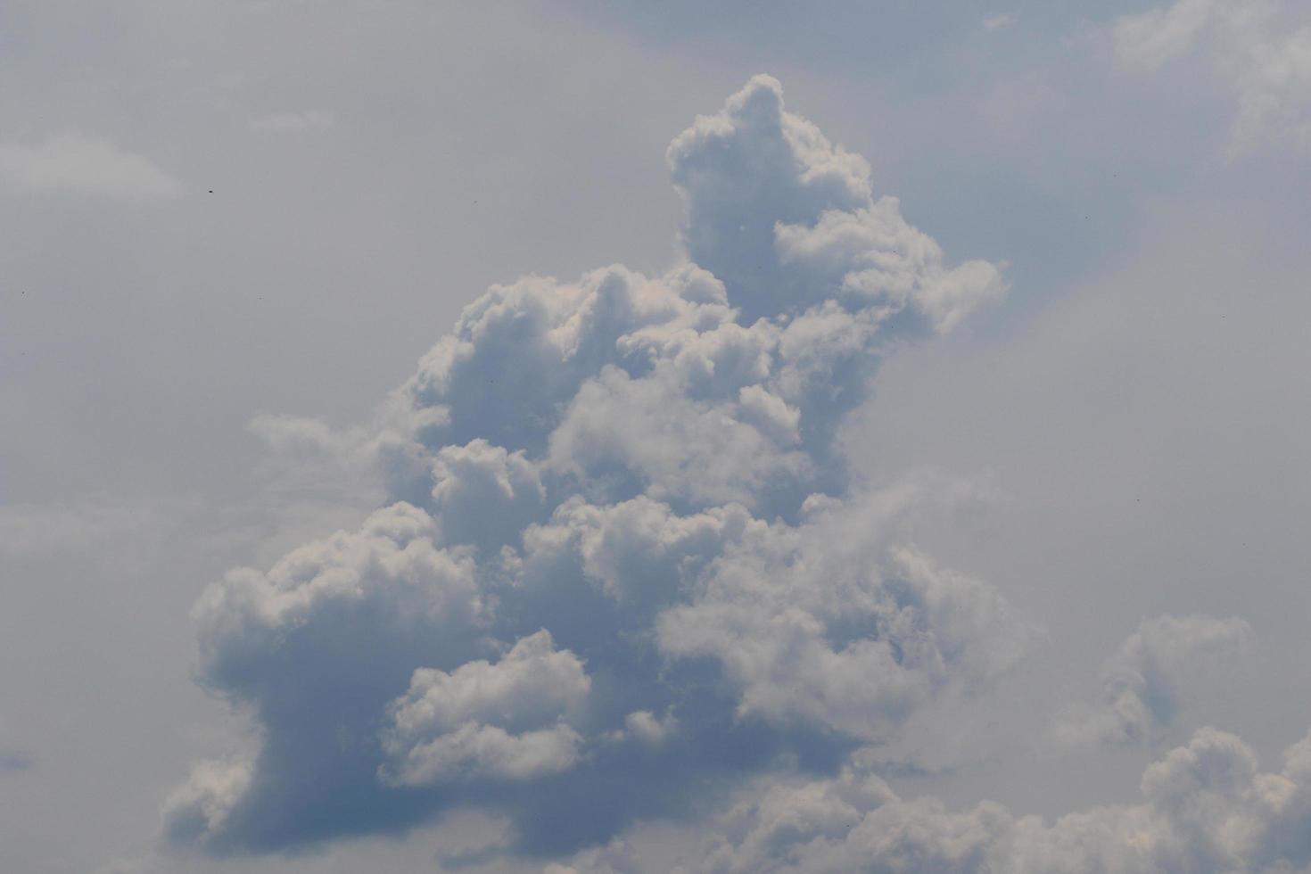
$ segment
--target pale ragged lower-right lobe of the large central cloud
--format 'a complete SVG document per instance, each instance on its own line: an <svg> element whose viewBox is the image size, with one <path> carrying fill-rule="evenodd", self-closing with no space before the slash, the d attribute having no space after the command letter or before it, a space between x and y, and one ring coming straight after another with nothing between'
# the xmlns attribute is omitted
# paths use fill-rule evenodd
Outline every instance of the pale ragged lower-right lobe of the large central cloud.
<svg viewBox="0 0 1311 874"><path fill-rule="evenodd" d="M743 531L687 603L659 616L661 651L722 664L741 688L739 715L869 740L947 685L996 677L1028 629L987 586L898 542L899 516L927 498L911 484L830 504L797 528Z"/></svg>

